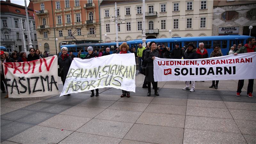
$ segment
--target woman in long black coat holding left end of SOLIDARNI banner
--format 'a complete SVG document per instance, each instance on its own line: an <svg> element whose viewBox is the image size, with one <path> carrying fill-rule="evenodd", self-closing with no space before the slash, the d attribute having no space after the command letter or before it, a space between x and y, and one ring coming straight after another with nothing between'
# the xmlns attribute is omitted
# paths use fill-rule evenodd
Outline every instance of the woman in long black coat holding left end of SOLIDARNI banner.
<svg viewBox="0 0 256 144"><path fill-rule="evenodd" d="M154 83L155 86L155 95L159 96L157 92L157 82L154 81L154 64L153 61L155 57L160 58L159 52L156 50L156 42L152 41L149 44L150 49L145 52L144 60L147 62L146 67L146 81L148 82L148 96L151 95L151 82Z"/></svg>

